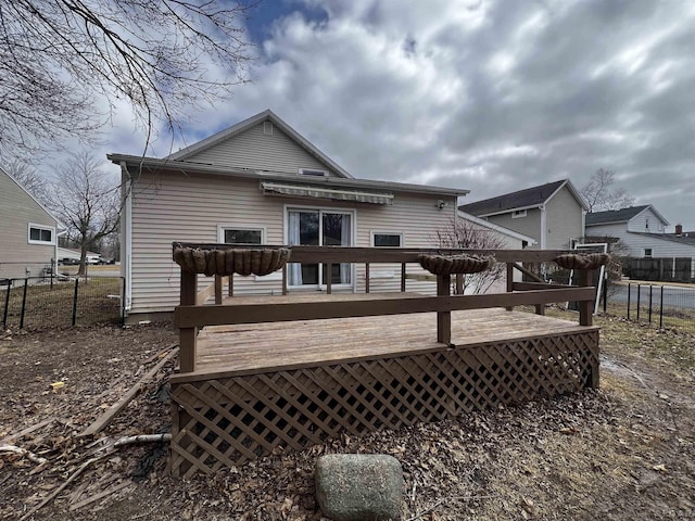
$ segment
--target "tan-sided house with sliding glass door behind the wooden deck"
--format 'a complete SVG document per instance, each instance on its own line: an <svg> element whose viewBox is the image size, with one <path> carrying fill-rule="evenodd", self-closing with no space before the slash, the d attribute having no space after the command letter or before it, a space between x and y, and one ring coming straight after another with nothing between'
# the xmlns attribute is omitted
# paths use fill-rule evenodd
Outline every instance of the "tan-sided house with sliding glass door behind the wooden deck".
<svg viewBox="0 0 695 521"><path fill-rule="evenodd" d="M178 304L173 242L428 247L468 190L356 179L270 111L167 157L110 154L124 190L121 265L129 320ZM364 265L291 264L290 292L361 292ZM201 287L210 283L200 278ZM400 266L370 270L397 291ZM235 277L235 294L279 294L281 274ZM434 291L408 280L408 291Z"/></svg>

